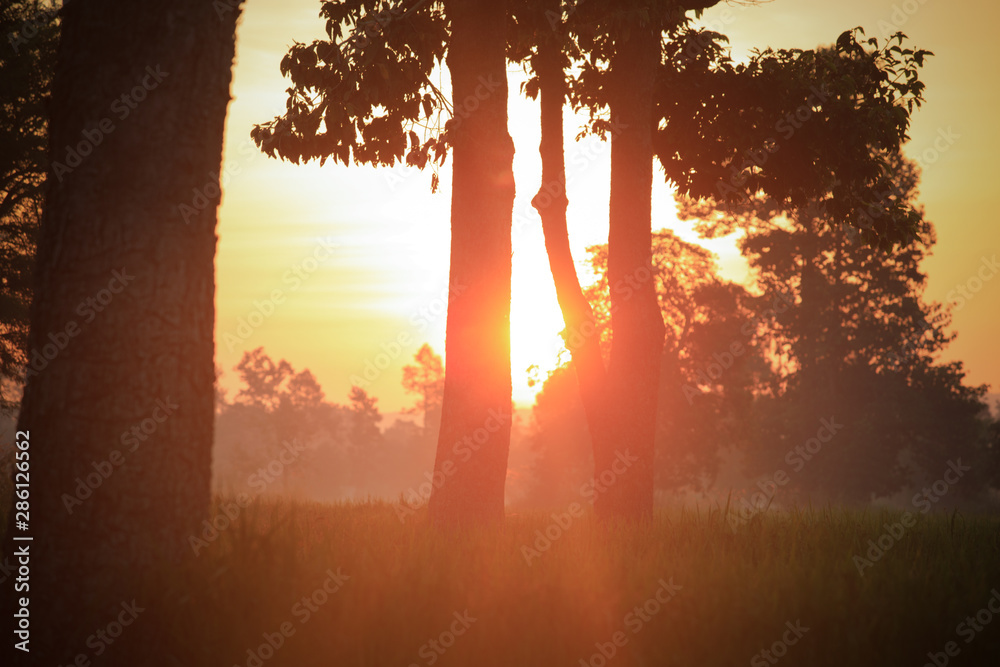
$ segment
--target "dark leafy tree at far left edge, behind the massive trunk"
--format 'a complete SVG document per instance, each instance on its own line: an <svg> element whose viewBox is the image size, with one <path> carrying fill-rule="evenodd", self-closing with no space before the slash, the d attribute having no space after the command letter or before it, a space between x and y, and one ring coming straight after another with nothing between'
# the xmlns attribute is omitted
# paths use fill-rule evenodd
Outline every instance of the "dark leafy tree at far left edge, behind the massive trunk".
<svg viewBox="0 0 1000 667"><path fill-rule="evenodd" d="M0 8L0 413L20 399L32 274L48 170L48 100L62 2Z"/></svg>

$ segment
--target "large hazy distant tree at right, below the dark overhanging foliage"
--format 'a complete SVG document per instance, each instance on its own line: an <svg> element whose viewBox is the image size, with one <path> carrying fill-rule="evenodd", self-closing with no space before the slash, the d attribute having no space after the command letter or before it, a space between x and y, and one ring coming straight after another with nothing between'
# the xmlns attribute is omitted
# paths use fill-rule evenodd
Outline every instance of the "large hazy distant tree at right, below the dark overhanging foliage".
<svg viewBox="0 0 1000 667"><path fill-rule="evenodd" d="M951 496L974 496L996 465L986 445L986 388L965 386L961 363L937 361L954 334L948 309L923 298L921 263L934 230L916 203L915 165L898 154L886 162L895 205L919 216L910 240L888 251L860 242L824 201L782 209L758 199L735 212L685 206L709 235L742 231L763 300L790 297L762 318L779 381L757 402L755 437L743 442L749 470L792 465L790 489L865 502L933 482L962 456L974 471ZM814 438L822 419L843 424L843 433L807 465L810 455L789 452Z"/></svg>

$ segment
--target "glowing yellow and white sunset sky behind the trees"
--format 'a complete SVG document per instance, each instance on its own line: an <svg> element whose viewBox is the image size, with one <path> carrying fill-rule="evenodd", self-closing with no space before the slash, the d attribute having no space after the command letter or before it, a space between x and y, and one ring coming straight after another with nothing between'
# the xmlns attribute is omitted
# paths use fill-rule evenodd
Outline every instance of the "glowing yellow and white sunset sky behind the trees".
<svg viewBox="0 0 1000 667"><path fill-rule="evenodd" d="M412 405L402 367L423 343L444 353L450 160L441 187L431 172L327 162L294 165L260 154L255 123L283 113L290 82L279 63L296 41L325 38L318 0L249 0L237 30L233 100L226 121L219 210L216 363L232 395L233 367L245 351L264 347L297 371L308 368L327 399L345 403L352 384L379 398L383 412ZM926 103L913 117L907 154L923 170L920 201L937 229L924 264L926 298L954 306L958 337L944 360L965 363L968 382L1000 391L996 326L1000 312L1000 225L993 204L1000 92L989 71L998 10L988 0L957 6L944 0L773 0L726 3L702 22L731 40L732 56L752 48L815 48L844 30L865 28L880 39L901 30L911 45L935 53L921 79ZM511 366L514 400L528 407L530 366L544 377L558 361L562 328L545 258L541 223L530 199L541 175L538 105L518 95L524 80L508 67L509 128L517 195L513 211ZM440 75L447 89L447 73ZM581 119L566 114L570 241L585 269L586 248L606 243L610 146L593 137L572 142ZM697 240L677 221L668 185L654 178L653 228ZM723 275L746 278L732 239L704 242Z"/></svg>

